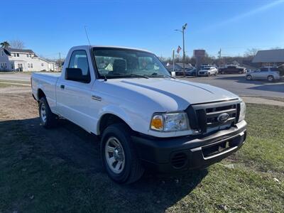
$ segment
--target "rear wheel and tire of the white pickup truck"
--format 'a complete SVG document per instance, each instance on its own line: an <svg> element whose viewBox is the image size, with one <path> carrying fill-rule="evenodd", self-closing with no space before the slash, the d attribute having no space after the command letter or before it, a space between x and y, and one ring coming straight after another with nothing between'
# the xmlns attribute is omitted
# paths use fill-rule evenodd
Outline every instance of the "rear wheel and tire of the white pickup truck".
<svg viewBox="0 0 284 213"><path fill-rule="evenodd" d="M58 123L58 116L50 110L45 97L42 97L38 103L38 114L40 115L40 124L46 129L50 129Z"/></svg>

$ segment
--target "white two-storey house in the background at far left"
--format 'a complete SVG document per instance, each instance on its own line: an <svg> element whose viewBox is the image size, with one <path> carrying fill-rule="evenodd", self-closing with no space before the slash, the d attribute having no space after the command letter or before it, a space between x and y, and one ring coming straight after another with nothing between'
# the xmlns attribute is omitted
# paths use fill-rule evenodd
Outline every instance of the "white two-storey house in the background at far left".
<svg viewBox="0 0 284 213"><path fill-rule="evenodd" d="M55 62L49 62L35 55L33 50L0 48L1 71L53 71Z"/></svg>

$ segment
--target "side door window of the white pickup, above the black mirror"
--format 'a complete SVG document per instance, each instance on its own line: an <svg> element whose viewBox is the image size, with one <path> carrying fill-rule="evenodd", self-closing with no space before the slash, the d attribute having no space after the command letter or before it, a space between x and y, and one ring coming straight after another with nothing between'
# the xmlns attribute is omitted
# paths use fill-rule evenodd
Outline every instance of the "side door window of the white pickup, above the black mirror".
<svg viewBox="0 0 284 213"><path fill-rule="evenodd" d="M82 75L89 77L89 63L87 53L84 50L75 50L70 59L69 68L80 68Z"/></svg>

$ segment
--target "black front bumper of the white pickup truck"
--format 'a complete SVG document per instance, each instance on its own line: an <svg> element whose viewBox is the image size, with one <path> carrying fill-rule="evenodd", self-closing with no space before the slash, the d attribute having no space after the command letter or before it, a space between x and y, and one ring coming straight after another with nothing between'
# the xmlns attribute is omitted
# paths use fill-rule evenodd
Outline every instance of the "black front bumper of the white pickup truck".
<svg viewBox="0 0 284 213"><path fill-rule="evenodd" d="M246 122L207 136L132 136L146 169L160 173L205 168L236 152L246 140Z"/></svg>

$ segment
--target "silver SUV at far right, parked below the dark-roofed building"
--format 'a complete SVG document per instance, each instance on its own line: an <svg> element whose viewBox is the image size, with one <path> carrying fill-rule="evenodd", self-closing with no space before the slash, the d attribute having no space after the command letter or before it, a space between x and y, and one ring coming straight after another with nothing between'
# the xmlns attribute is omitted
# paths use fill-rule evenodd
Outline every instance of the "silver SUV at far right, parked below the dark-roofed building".
<svg viewBox="0 0 284 213"><path fill-rule="evenodd" d="M273 82L274 80L280 80L280 78L277 67L261 67L246 74L246 80L268 80L268 82Z"/></svg>

